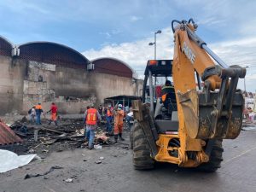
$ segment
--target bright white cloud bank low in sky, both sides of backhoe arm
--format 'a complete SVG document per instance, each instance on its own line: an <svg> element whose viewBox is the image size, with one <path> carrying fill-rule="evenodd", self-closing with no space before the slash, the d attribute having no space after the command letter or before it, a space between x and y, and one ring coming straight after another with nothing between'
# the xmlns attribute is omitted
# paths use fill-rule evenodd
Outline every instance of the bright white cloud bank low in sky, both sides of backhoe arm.
<svg viewBox="0 0 256 192"><path fill-rule="evenodd" d="M157 58L172 59L173 55L173 34L171 27L162 30L161 34L157 35ZM114 57L128 63L143 77L143 70L146 62L154 58L154 46L148 46L149 42L154 41L152 38L144 38L135 42L123 44L108 44L102 49L90 49L84 51L84 55L90 60L99 57ZM256 38L242 38L234 41L223 41L215 44L208 44L223 61L228 65L241 65L247 68L247 90L254 90L253 81L256 76ZM239 88L243 89L243 79L239 82Z"/></svg>

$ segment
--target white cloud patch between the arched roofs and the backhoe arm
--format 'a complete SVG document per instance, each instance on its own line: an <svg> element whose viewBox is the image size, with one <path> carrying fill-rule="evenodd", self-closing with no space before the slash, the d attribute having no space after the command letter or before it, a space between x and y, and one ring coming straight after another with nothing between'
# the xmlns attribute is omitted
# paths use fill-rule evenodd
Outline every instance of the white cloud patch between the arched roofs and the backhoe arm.
<svg viewBox="0 0 256 192"><path fill-rule="evenodd" d="M148 43L154 41L152 38L144 38L130 43L123 44L108 44L100 50L89 49L83 54L90 60L99 57L114 57L125 61L138 74L143 73L145 65L149 59L154 59L154 46L149 46ZM161 34L157 35L157 58L172 59L172 29L166 28Z"/></svg>

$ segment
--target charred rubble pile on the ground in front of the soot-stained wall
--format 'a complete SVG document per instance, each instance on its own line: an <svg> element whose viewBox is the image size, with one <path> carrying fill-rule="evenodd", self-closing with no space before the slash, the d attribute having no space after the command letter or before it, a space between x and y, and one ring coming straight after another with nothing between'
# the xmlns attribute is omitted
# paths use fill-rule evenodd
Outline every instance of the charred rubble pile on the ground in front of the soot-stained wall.
<svg viewBox="0 0 256 192"><path fill-rule="evenodd" d="M24 121L15 121L10 128L22 138L22 143L0 146L16 154L49 154L67 149L85 148L83 119L61 119L59 126L31 125ZM105 125L96 128L95 145L111 144L104 132Z"/></svg>

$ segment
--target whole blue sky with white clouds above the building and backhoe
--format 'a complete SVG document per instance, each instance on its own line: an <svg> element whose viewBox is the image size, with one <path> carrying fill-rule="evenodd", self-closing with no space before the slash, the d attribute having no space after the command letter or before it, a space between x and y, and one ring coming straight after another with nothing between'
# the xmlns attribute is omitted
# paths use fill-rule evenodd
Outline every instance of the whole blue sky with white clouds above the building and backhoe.
<svg viewBox="0 0 256 192"><path fill-rule="evenodd" d="M172 58L173 19L194 18L197 33L228 65L248 66L247 90L256 80L256 1L37 0L0 1L0 35L14 44L53 41L88 59L112 56L143 73L157 36L158 58ZM243 88L242 82L239 86Z"/></svg>

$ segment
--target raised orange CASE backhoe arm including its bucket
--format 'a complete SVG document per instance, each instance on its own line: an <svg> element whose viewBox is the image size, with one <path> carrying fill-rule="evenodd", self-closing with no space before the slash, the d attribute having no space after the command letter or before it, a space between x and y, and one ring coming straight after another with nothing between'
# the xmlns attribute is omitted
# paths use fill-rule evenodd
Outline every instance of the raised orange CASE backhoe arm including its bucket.
<svg viewBox="0 0 256 192"><path fill-rule="evenodd" d="M178 25L174 27L176 22ZM238 79L245 77L246 69L228 67L195 34L196 28L192 19L172 21L172 76L178 100L179 128L186 127L192 138L235 138L241 131L244 102L236 86ZM195 71L204 81L203 92L196 91Z"/></svg>

